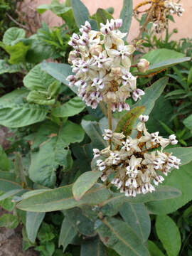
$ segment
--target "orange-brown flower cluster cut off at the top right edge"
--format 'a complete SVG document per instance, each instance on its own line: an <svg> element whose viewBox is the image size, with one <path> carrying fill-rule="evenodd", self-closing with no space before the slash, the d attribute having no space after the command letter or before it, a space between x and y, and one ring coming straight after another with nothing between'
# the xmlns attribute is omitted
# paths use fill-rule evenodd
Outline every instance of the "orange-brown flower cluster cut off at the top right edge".
<svg viewBox="0 0 192 256"><path fill-rule="evenodd" d="M147 9L140 11L140 8L146 5ZM150 5L149 8L148 5ZM167 16L171 14L182 16L184 9L182 8L182 4L176 4L173 0L150 0L137 4L134 8L134 16L137 17L143 13L149 14L150 11L151 17L149 18L149 22L154 23L156 33L161 33L167 28Z"/></svg>

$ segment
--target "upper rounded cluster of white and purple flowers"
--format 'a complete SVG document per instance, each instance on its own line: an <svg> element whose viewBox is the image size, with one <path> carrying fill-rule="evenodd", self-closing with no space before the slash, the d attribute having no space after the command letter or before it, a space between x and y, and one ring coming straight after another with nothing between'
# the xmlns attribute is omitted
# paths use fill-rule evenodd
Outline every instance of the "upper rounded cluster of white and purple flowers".
<svg viewBox="0 0 192 256"><path fill-rule="evenodd" d="M137 101L144 92L137 89L137 78L130 73L134 46L125 45L126 33L119 31L122 20L107 20L100 23L100 31L93 31L90 23L80 28L81 36L73 33L69 45L69 63L73 73L67 80L70 86L78 87L78 95L87 106L95 109L101 101L111 102L112 110L129 110L126 103L131 96Z"/></svg>

